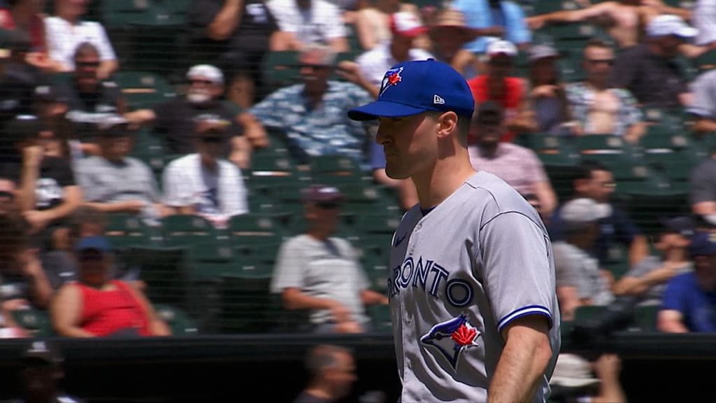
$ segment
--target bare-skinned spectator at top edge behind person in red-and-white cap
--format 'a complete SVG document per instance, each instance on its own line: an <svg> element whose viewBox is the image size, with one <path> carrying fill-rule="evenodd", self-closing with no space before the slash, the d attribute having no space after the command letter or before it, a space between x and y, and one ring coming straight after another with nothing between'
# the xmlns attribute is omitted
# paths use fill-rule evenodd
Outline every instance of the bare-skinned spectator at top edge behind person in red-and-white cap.
<svg viewBox="0 0 716 403"><path fill-rule="evenodd" d="M373 4L359 9L355 21L356 35L360 49L368 51L374 47L390 42L392 30L390 29L391 16L397 12L407 12L415 16L422 24L420 9L415 4L400 0L378 0ZM417 47L425 49L425 37L416 38Z"/></svg>

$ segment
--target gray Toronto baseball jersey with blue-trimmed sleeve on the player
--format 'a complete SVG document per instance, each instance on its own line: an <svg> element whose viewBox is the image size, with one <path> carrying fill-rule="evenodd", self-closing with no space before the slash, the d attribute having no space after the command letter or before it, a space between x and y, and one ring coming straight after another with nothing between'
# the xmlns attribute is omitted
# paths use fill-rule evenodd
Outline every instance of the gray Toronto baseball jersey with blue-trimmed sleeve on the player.
<svg viewBox="0 0 716 403"><path fill-rule="evenodd" d="M388 279L402 403L485 402L505 341L521 316L550 323L560 349L551 242L511 186L480 171L427 214L408 211L392 240Z"/></svg>

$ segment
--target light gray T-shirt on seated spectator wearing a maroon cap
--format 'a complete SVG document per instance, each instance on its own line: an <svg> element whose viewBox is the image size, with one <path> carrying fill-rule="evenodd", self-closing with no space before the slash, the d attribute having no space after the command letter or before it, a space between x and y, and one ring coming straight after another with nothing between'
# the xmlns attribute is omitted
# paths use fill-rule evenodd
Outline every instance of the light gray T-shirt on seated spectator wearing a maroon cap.
<svg viewBox="0 0 716 403"><path fill-rule="evenodd" d="M351 245L341 238L316 240L301 234L284 242L279 249L271 292L298 288L316 298L336 300L348 308L357 323L367 323L360 294L368 280ZM311 323L329 323L329 310L313 310Z"/></svg>

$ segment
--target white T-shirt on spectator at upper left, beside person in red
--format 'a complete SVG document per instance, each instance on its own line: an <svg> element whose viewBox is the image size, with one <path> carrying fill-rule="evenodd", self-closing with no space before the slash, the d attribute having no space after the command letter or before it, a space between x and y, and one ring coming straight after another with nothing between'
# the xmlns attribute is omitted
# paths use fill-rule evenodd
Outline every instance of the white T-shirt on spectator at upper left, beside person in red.
<svg viewBox="0 0 716 403"><path fill-rule="evenodd" d="M62 62L63 65L74 70L74 50L77 45L89 42L100 52L100 60L116 60L115 50L112 49L110 39L107 37L105 27L99 22L82 21L72 25L59 16L49 16L44 19L45 34L47 35L47 48L52 60Z"/></svg>

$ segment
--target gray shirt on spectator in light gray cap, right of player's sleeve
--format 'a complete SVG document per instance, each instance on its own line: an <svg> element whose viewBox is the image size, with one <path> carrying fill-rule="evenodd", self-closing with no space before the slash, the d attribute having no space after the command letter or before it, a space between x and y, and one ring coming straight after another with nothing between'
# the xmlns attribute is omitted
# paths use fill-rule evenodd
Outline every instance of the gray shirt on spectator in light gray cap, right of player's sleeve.
<svg viewBox="0 0 716 403"><path fill-rule="evenodd" d="M614 294L599 271L599 260L567 242L554 242L554 265L558 287L574 287L579 298L591 299L592 305L609 305Z"/></svg>

